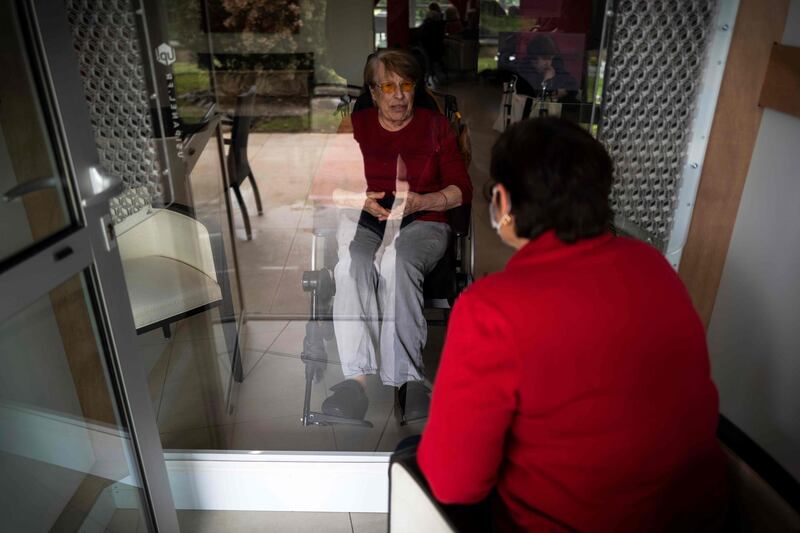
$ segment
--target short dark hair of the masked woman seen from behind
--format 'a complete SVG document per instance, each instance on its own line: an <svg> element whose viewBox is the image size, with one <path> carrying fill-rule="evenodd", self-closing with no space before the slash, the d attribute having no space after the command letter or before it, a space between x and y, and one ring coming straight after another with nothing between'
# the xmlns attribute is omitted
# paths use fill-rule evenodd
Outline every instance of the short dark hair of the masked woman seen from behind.
<svg viewBox="0 0 800 533"><path fill-rule="evenodd" d="M519 237L555 230L574 243L611 227L611 158L572 122L542 117L512 125L492 148L491 175L509 192Z"/></svg>

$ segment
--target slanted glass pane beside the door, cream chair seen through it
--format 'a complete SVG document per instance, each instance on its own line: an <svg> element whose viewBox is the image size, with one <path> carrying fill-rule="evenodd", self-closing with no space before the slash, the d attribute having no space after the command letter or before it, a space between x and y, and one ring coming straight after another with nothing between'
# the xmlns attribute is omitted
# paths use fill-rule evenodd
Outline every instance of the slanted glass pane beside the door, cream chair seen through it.
<svg viewBox="0 0 800 533"><path fill-rule="evenodd" d="M206 5L67 2L67 11L98 153L124 184L112 222L159 431L170 442L175 432L229 423L243 377L226 117Z"/></svg>

